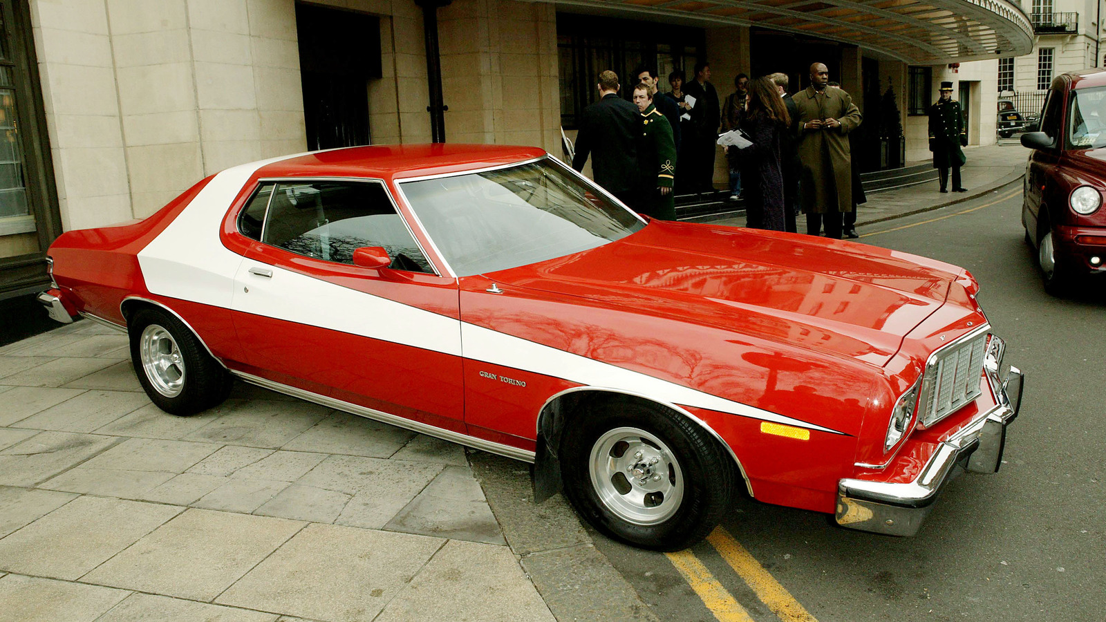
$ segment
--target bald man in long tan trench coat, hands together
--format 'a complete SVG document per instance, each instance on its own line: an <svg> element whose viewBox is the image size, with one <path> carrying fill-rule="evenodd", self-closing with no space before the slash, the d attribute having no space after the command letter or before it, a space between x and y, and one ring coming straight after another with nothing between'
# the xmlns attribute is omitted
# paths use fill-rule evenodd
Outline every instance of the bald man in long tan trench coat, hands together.
<svg viewBox="0 0 1106 622"><path fill-rule="evenodd" d="M811 85L792 99L799 112L800 194L806 232L817 236L825 220L826 237L841 239L842 214L853 209L848 133L860 125L862 117L848 93L827 86L828 82L826 65L814 63Z"/></svg>

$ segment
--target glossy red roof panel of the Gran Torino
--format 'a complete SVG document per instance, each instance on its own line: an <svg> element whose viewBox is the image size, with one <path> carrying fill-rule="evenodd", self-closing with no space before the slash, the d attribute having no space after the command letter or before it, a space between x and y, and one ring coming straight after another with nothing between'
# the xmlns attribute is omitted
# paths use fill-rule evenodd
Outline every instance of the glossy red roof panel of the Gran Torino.
<svg viewBox="0 0 1106 622"><path fill-rule="evenodd" d="M311 152L267 164L258 177L365 177L398 179L461 173L526 162L539 147L508 145L371 145Z"/></svg>

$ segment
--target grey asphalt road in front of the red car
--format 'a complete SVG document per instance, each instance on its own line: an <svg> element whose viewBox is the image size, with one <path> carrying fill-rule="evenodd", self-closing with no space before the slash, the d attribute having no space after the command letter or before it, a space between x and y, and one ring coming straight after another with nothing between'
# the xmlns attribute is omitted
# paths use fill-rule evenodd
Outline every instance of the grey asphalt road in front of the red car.
<svg viewBox="0 0 1106 622"><path fill-rule="evenodd" d="M873 225L859 240L979 279L1006 361L1026 374L1001 470L954 480L914 538L749 499L689 554L596 537L661 620L1106 620L1106 280L1066 300L1043 291L1019 188Z"/></svg>

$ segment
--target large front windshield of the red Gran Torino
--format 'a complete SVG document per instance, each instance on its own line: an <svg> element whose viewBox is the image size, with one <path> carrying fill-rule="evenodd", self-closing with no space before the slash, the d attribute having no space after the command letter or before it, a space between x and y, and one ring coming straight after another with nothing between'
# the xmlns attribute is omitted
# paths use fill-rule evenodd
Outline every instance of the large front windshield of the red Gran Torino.
<svg viewBox="0 0 1106 622"><path fill-rule="evenodd" d="M458 277L596 248L645 226L547 158L400 189Z"/></svg>

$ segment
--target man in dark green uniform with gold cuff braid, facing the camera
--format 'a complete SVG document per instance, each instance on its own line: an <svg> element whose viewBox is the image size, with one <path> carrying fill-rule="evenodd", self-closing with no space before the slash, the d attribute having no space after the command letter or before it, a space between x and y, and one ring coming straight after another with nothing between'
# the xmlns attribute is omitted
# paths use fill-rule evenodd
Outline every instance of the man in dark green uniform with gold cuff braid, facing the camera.
<svg viewBox="0 0 1106 622"><path fill-rule="evenodd" d="M634 103L641 111L641 136L637 144L637 163L641 170L641 212L658 220L676 220L676 197L672 195L676 143L672 141L672 126L653 105L648 85L634 87Z"/></svg>

